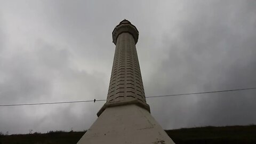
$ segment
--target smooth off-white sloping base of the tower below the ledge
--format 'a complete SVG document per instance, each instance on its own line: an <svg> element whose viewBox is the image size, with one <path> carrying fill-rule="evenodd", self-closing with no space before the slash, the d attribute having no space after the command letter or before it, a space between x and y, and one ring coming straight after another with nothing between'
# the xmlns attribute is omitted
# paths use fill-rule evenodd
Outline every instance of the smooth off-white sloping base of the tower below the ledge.
<svg viewBox="0 0 256 144"><path fill-rule="evenodd" d="M137 105L108 107L78 144L174 143L148 110Z"/></svg>

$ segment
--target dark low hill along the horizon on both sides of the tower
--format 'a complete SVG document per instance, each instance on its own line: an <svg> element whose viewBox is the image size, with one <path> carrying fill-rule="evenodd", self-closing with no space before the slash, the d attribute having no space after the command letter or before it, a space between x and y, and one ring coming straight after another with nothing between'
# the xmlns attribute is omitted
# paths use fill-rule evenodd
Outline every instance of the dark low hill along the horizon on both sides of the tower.
<svg viewBox="0 0 256 144"><path fill-rule="evenodd" d="M85 132L51 131L48 133L0 135L0 144L72 144ZM166 130L176 144L187 143L256 143L256 125L206 126L189 129Z"/></svg>

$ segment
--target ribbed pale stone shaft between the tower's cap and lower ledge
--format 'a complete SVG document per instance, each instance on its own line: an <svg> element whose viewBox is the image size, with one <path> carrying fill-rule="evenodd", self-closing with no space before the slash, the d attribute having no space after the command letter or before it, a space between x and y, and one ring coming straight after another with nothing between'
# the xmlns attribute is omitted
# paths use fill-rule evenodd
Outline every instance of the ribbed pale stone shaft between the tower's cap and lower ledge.
<svg viewBox="0 0 256 144"><path fill-rule="evenodd" d="M134 38L122 33L117 38L107 102L133 99L146 103Z"/></svg>

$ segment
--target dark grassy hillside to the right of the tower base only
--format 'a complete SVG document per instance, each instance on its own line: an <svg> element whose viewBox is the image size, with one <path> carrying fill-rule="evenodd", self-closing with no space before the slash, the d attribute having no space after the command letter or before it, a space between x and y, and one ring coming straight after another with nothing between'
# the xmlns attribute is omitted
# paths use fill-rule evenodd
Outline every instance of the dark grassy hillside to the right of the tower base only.
<svg viewBox="0 0 256 144"><path fill-rule="evenodd" d="M166 130L175 143L256 143L256 125Z"/></svg>

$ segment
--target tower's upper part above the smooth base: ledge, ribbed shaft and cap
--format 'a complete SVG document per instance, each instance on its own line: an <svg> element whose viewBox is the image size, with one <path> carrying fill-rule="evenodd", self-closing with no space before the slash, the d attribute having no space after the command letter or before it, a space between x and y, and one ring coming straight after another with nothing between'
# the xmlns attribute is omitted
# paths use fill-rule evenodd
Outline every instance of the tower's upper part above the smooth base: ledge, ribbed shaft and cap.
<svg viewBox="0 0 256 144"><path fill-rule="evenodd" d="M115 57L111 72L106 107L135 103L148 111L143 88L140 65L135 44L139 32L129 21L123 20L113 31L113 43L116 44Z"/></svg>

